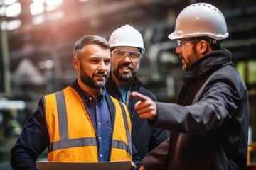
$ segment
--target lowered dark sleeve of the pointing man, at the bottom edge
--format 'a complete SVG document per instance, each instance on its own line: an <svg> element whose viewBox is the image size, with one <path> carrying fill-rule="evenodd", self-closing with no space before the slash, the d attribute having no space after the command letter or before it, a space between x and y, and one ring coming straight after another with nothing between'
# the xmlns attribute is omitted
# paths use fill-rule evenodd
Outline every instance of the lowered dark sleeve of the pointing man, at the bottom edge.
<svg viewBox="0 0 256 170"><path fill-rule="evenodd" d="M158 147L146 154L142 159L142 166L146 170L163 170L165 169L166 159L169 150L169 139L165 140Z"/></svg>

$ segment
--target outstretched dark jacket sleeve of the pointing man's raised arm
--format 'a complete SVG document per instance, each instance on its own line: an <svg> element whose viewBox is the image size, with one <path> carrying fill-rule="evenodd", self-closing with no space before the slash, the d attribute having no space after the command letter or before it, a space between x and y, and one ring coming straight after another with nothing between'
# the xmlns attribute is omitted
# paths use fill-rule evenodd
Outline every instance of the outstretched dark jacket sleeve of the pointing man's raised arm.
<svg viewBox="0 0 256 170"><path fill-rule="evenodd" d="M233 118L241 101L238 89L218 82L206 86L192 105L156 102L157 118L150 125L176 132L203 134L211 132Z"/></svg>

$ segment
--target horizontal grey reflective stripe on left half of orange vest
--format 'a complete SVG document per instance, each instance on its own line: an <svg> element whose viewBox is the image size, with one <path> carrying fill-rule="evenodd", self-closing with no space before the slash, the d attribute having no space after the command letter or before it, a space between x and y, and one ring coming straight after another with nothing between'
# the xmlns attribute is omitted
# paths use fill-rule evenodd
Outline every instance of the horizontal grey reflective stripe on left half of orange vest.
<svg viewBox="0 0 256 170"><path fill-rule="evenodd" d="M97 146L95 137L76 138L76 139L52 142L49 147L49 152L52 152L58 149L66 149L70 147L85 147L85 146Z"/></svg>

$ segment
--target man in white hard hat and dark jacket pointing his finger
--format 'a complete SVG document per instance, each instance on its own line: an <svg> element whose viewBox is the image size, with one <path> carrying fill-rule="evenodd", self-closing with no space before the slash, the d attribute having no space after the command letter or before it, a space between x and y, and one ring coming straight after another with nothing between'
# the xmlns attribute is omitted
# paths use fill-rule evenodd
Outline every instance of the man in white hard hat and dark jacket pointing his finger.
<svg viewBox="0 0 256 170"><path fill-rule="evenodd" d="M228 38L223 14L211 4L191 4L179 13L171 40L184 71L177 103L152 101L136 92L135 108L152 127L170 130L170 140L144 159L146 170L247 169L247 89L221 49Z"/></svg>

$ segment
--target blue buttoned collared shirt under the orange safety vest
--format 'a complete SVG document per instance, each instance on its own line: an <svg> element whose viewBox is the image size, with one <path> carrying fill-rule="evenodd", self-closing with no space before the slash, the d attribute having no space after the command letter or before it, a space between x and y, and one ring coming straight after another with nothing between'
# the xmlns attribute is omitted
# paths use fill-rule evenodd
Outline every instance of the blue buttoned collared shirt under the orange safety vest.
<svg viewBox="0 0 256 170"><path fill-rule="evenodd" d="M112 122L105 98L106 90L95 99L83 91L87 111L97 133L99 162L110 161L110 144L112 140Z"/></svg>

